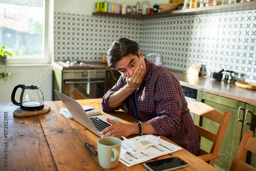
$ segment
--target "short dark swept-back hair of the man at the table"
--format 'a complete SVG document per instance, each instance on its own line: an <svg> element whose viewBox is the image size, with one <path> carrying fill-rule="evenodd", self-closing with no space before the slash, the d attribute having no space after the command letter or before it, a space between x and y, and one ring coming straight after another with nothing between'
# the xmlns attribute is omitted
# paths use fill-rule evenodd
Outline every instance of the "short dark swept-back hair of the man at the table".
<svg viewBox="0 0 256 171"><path fill-rule="evenodd" d="M109 70L114 79L112 68L116 68L115 64L117 61L121 60L124 56L133 54L138 57L139 55L139 44L133 40L127 38L120 38L113 42L112 46L106 53L106 60L109 65Z"/></svg>

